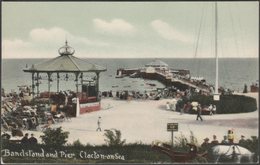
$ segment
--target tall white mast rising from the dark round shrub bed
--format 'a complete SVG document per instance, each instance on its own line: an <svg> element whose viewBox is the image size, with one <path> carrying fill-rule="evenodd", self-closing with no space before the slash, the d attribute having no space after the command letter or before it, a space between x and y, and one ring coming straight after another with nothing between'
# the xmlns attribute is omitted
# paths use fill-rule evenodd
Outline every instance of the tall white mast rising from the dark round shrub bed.
<svg viewBox="0 0 260 165"><path fill-rule="evenodd" d="M218 4L215 2L215 58L216 58L216 82L214 100L219 100L218 93Z"/></svg>

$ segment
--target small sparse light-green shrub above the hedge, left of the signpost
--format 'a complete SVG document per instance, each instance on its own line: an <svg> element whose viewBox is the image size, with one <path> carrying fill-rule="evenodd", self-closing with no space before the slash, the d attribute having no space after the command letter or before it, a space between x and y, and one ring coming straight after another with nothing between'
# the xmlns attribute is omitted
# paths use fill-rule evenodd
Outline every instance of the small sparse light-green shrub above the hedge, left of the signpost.
<svg viewBox="0 0 260 165"><path fill-rule="evenodd" d="M117 129L105 130L106 133L104 136L106 137L105 141L109 146L122 146L125 144L125 139L121 140L121 131Z"/></svg>

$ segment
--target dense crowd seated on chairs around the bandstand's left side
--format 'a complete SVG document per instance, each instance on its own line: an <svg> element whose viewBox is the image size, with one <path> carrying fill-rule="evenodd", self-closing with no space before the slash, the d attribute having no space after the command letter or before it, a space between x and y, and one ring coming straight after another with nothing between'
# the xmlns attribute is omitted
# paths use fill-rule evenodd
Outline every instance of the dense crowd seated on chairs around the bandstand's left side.
<svg viewBox="0 0 260 165"><path fill-rule="evenodd" d="M51 124L61 122L72 116L68 110L69 105L73 105L73 97L75 93L70 91L61 91L51 94L51 99L44 102L44 94L36 97L33 102L28 101L31 94L30 88L20 87L20 93L5 93L2 89L1 93L1 129L3 131L26 131L26 130L44 130ZM47 95L47 94L46 94ZM48 96L49 97L49 94ZM65 108L65 105L68 105ZM60 120L62 119L62 120Z"/></svg>

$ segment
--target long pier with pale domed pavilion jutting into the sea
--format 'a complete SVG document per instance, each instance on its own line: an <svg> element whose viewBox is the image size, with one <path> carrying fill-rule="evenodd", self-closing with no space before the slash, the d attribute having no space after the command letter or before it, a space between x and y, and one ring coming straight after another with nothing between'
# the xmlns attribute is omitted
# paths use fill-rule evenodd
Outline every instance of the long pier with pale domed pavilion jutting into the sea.
<svg viewBox="0 0 260 165"><path fill-rule="evenodd" d="M175 87L181 91L194 89L206 94L211 92L211 87L206 84L205 80L193 79L190 76L189 70L171 69L166 63L160 60L155 60L152 63L145 65L143 68L120 68L117 70L117 78L125 76L157 80L166 87Z"/></svg>

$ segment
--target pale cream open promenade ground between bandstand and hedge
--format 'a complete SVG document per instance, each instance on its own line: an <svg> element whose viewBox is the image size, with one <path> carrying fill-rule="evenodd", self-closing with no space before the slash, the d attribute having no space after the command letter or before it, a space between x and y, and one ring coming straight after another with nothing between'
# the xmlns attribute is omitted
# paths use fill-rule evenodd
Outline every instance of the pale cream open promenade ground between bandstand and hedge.
<svg viewBox="0 0 260 165"><path fill-rule="evenodd" d="M256 98L258 102L258 93L247 95ZM127 143L169 142L171 133L167 132L167 123L179 124L179 130L174 132L174 137L183 134L189 138L190 131L192 131L199 144L205 137L212 140L214 134L221 141L228 129L234 130L235 142L238 142L241 135L246 138L258 136L258 110L250 113L203 115L204 121L196 121L196 115L181 115L179 112L166 110L167 101L170 99L126 101L103 98L101 101L102 110L53 124L52 128L61 126L64 131L69 131L68 143L80 140L82 144L91 145L105 144L104 130L112 128L120 130L122 138L126 139ZM102 117L101 132L96 131L99 116ZM26 132L34 133L41 142L42 132Z"/></svg>

